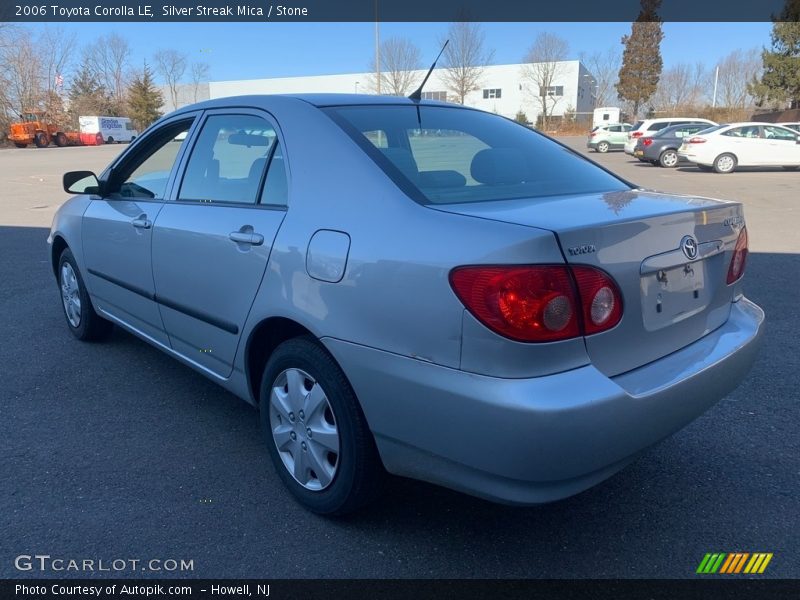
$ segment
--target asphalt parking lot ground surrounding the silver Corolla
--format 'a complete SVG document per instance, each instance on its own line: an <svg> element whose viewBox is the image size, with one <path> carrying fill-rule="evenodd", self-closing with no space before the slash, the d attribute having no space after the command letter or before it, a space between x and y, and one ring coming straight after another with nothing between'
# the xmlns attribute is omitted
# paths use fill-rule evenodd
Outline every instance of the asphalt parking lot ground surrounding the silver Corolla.
<svg viewBox="0 0 800 600"><path fill-rule="evenodd" d="M772 552L765 576L800 577L800 173L591 153L643 187L745 205L745 292L768 319L747 380L576 497L512 508L393 479L329 520L284 491L251 407L127 333L67 331L45 244L61 174L123 149L0 150L0 578L92 575L19 571L21 554L193 561L95 575L121 577L682 578L707 552Z"/></svg>

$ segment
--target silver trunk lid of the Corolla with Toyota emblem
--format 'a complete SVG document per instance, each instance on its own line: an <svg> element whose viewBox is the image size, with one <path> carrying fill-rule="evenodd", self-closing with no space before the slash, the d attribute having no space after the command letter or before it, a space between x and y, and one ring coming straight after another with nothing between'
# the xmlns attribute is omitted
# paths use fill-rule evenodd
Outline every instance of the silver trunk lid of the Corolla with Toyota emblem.
<svg viewBox="0 0 800 600"><path fill-rule="evenodd" d="M569 264L611 275L622 292L622 320L585 338L606 375L683 348L728 318L740 204L631 190L432 208L550 230Z"/></svg>

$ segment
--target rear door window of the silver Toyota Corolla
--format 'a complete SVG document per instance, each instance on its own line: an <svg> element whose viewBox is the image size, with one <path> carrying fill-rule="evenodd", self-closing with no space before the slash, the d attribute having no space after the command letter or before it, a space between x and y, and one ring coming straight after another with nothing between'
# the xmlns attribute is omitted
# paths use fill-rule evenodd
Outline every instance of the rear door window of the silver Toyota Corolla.
<svg viewBox="0 0 800 600"><path fill-rule="evenodd" d="M192 148L178 200L255 204L277 136L255 115L212 115Z"/></svg>

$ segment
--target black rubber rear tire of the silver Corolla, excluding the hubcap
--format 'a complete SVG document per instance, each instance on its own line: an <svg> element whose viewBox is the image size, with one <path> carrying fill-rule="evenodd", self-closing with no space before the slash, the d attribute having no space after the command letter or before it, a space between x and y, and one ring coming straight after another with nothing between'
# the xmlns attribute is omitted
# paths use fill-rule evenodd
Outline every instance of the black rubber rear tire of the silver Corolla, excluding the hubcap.
<svg viewBox="0 0 800 600"><path fill-rule="evenodd" d="M287 371L291 372L295 369L303 371L309 376L309 379L303 377L297 380L302 381L304 393L307 394L302 401L303 406L309 406L305 398L310 397L309 392L313 386L319 385L327 398L330 409L330 411L327 407L324 409L326 422L333 423L338 434L338 455L327 452L323 459L328 460L328 465L335 468L333 478L322 489L308 489L295 479L289 471L289 467L284 464L273 437L273 426L284 430L287 427L292 428L291 434L284 432L284 436L291 436L292 440L287 441L290 447L284 451L287 460L291 457L294 461L295 451L312 452L313 450L313 438L305 437L303 434L304 431L310 431L312 427L309 425L309 429L306 430L306 423L303 419L311 423L312 415L301 414L299 411L295 415L294 412L290 412L288 413L292 419L290 423L289 420L280 416L279 411L272 408L273 388L276 387L282 375L285 377L284 374ZM287 379L288 385L289 380ZM278 387L278 389L280 388ZM278 346L264 367L259 400L261 427L272 462L284 485L305 508L322 515L345 515L363 507L380 493L385 471L364 413L347 377L328 351L314 338L298 337ZM320 414L318 411L315 412ZM300 440L305 440L302 441L302 450L298 445ZM321 448L321 446L316 447L315 456L319 455ZM331 464L334 456L335 461ZM304 472L314 474L310 466Z"/></svg>

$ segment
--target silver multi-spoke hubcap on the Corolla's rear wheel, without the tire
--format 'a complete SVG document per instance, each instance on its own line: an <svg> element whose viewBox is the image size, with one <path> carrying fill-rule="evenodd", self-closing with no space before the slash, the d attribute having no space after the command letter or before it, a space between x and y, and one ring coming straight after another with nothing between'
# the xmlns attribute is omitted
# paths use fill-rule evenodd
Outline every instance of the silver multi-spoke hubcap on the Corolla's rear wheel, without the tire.
<svg viewBox="0 0 800 600"><path fill-rule="evenodd" d="M286 369L269 399L272 439L283 466L307 490L327 488L339 467L339 430L325 390L301 369Z"/></svg>

